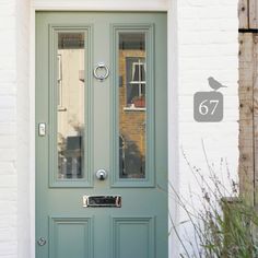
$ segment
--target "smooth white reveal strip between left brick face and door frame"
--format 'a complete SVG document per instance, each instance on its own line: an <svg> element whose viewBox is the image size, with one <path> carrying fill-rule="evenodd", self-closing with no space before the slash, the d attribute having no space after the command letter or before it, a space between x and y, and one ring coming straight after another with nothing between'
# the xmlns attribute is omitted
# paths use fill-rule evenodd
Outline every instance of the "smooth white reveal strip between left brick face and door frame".
<svg viewBox="0 0 258 258"><path fill-rule="evenodd" d="M31 257L30 142L30 11L31 0L16 0L16 168L17 168L17 257Z"/></svg>

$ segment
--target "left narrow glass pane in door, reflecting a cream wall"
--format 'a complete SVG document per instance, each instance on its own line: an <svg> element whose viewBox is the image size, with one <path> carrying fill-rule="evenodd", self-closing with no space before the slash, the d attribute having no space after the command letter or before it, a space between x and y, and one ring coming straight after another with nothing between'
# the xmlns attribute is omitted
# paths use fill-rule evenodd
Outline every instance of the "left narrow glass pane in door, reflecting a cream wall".
<svg viewBox="0 0 258 258"><path fill-rule="evenodd" d="M84 33L58 33L58 178L82 178L84 156Z"/></svg>

